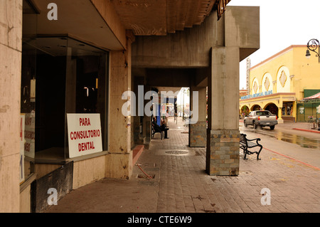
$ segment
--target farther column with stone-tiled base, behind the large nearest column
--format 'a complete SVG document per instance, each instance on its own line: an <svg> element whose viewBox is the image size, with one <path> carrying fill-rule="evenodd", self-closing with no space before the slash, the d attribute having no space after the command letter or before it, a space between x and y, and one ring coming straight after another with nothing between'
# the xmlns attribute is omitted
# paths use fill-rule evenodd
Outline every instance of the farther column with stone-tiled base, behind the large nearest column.
<svg viewBox="0 0 320 227"><path fill-rule="evenodd" d="M193 103L193 91L198 91L198 106ZM198 122L189 125L189 146L190 147L206 147L207 138L207 121L206 121L206 88L193 87L190 88L190 110L198 107Z"/></svg>

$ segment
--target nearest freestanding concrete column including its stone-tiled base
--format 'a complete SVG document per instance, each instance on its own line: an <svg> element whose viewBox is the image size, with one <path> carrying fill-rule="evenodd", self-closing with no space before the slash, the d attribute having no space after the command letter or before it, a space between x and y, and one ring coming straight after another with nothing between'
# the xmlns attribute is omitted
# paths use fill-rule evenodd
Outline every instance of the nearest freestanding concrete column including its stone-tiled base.
<svg viewBox="0 0 320 227"><path fill-rule="evenodd" d="M210 175L239 174L239 48L215 47L208 80L206 170Z"/></svg>

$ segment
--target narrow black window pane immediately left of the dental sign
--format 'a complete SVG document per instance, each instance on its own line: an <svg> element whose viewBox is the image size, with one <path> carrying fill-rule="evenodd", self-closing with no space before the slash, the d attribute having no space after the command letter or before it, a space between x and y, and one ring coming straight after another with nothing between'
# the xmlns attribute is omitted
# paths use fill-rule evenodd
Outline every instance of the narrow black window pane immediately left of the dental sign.
<svg viewBox="0 0 320 227"><path fill-rule="evenodd" d="M65 159L67 38L36 38L36 159Z"/></svg>

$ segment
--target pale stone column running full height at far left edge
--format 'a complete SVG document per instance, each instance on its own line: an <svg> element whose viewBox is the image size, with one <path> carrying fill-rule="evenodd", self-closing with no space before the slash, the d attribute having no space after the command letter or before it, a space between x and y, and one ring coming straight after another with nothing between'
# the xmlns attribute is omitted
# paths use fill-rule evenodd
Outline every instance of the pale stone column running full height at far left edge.
<svg viewBox="0 0 320 227"><path fill-rule="evenodd" d="M0 1L0 212L19 212L22 0Z"/></svg>

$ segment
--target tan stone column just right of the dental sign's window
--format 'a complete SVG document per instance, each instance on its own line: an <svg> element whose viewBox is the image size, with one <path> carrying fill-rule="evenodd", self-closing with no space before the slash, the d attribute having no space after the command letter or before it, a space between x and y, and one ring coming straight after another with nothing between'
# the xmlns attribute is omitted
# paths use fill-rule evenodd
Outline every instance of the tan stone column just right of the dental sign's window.
<svg viewBox="0 0 320 227"><path fill-rule="evenodd" d="M131 90L131 43L125 51L110 52L108 152L105 176L128 179L132 174L131 116L122 114L122 94Z"/></svg>

